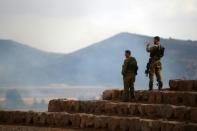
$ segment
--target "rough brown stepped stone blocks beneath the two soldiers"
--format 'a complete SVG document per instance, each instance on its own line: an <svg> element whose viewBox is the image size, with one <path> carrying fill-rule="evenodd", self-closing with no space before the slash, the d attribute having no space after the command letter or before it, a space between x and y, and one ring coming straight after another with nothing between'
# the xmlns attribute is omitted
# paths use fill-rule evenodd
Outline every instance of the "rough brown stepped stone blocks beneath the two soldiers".
<svg viewBox="0 0 197 131"><path fill-rule="evenodd" d="M106 90L103 100L54 99L48 112L0 111L0 123L73 130L196 131L197 82L170 80L167 90L135 91L122 102L122 90Z"/></svg>

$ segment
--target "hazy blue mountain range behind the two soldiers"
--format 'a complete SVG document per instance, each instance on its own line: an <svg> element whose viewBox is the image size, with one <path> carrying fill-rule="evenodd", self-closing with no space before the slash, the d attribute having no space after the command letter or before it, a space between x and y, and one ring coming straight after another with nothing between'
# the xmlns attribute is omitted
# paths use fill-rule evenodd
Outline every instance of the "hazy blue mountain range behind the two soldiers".
<svg viewBox="0 0 197 131"><path fill-rule="evenodd" d="M120 33L70 54L43 52L17 42L0 40L0 82L4 84L93 84L121 86L125 49L139 65L137 87L145 87L148 61L145 42L151 37ZM163 62L165 84L169 79L197 78L197 41L161 39L166 48Z"/></svg>

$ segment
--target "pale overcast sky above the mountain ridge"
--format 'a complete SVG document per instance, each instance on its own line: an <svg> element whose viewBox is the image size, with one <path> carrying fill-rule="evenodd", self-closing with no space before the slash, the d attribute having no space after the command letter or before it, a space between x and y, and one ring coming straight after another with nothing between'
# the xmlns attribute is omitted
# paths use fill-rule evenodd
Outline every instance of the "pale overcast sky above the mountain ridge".
<svg viewBox="0 0 197 131"><path fill-rule="evenodd" d="M0 0L0 38L72 52L120 32L197 40L197 0Z"/></svg>

